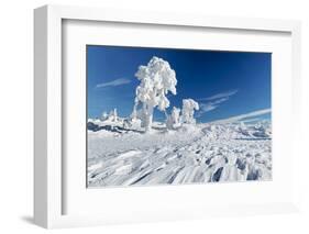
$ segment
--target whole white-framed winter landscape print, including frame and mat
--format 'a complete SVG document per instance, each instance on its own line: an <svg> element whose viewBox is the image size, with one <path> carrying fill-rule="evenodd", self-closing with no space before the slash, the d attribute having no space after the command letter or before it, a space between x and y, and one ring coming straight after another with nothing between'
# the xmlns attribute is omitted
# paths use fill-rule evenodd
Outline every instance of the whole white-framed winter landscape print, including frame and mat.
<svg viewBox="0 0 309 234"><path fill-rule="evenodd" d="M35 223L297 211L299 27L36 9Z"/></svg>

